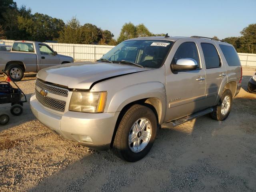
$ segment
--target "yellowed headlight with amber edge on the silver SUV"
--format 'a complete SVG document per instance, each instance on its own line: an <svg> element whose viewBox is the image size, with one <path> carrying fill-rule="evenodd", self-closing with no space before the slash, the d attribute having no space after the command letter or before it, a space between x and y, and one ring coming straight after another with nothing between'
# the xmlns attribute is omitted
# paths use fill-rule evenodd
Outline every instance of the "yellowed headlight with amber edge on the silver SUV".
<svg viewBox="0 0 256 192"><path fill-rule="evenodd" d="M102 113L107 92L73 92L69 110L85 113Z"/></svg>

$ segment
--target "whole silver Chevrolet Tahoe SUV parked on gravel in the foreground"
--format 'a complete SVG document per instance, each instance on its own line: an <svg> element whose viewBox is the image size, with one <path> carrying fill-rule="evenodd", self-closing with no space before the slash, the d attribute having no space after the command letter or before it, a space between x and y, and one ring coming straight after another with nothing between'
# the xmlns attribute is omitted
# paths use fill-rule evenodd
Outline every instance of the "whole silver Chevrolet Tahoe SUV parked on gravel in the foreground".
<svg viewBox="0 0 256 192"><path fill-rule="evenodd" d="M54 133L135 162L158 128L225 120L241 87L234 47L199 36L126 40L100 60L40 70L31 110Z"/></svg>

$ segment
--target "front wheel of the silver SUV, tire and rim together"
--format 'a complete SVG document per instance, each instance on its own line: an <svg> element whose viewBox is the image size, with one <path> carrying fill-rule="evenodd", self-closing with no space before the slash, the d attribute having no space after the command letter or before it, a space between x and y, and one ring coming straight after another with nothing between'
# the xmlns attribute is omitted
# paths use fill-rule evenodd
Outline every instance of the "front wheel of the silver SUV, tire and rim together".
<svg viewBox="0 0 256 192"><path fill-rule="evenodd" d="M123 160L136 162L152 148L157 132L154 112L143 105L130 107L118 126L113 150Z"/></svg>

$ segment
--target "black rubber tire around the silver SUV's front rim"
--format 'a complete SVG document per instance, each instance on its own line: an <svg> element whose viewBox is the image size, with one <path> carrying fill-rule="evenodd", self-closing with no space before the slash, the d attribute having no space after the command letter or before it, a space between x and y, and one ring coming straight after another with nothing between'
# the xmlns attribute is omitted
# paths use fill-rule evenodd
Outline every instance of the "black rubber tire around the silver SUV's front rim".
<svg viewBox="0 0 256 192"><path fill-rule="evenodd" d="M148 144L140 152L133 152L128 144L128 136L133 124L140 118L147 118L151 124L151 137ZM146 128L147 129L147 128ZM157 119L154 112L143 105L131 106L120 121L113 143L113 151L121 159L136 162L142 159L152 148L157 133ZM141 134L140 134L141 135ZM138 136L140 138L140 136Z"/></svg>

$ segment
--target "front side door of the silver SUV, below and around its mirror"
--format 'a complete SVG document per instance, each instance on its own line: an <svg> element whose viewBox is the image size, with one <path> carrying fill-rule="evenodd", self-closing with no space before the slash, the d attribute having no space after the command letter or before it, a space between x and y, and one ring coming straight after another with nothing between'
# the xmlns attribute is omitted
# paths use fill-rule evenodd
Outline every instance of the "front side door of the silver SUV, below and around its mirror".
<svg viewBox="0 0 256 192"><path fill-rule="evenodd" d="M178 59L192 58L198 63L196 70L174 71L171 64ZM204 108L206 74L202 66L196 41L177 40L166 65L166 119L174 120Z"/></svg>

